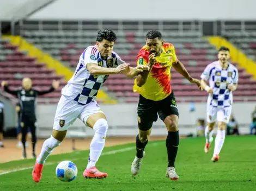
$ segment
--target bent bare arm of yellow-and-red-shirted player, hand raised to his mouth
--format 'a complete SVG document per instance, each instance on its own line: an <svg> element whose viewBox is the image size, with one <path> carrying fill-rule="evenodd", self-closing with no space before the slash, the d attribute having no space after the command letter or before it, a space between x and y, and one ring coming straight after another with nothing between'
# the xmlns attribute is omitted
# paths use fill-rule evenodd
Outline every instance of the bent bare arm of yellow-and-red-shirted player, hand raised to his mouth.
<svg viewBox="0 0 256 191"><path fill-rule="evenodd" d="M137 75L136 82L137 82L138 87L142 87L145 84L145 82L148 79L149 73L150 73L152 67L154 66L155 62L156 62L155 54L154 53L150 54L149 62L147 64L147 66L149 67L149 70L144 70L143 72L141 72ZM139 65L139 66L141 66L141 65Z"/></svg>

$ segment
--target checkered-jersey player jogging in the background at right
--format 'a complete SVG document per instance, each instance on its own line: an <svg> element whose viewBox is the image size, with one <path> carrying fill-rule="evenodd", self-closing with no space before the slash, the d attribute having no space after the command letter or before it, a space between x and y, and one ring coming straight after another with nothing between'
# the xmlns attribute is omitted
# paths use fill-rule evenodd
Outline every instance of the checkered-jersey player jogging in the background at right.
<svg viewBox="0 0 256 191"><path fill-rule="evenodd" d="M232 92L237 88L238 72L234 65L228 62L229 49L221 47L218 50L218 61L210 63L201 75L201 84L209 92L207 101L207 122L205 128L205 153L208 153L213 141L212 133L217 121L214 155L211 160L219 160L219 154L225 139L225 128L229 122L233 103ZM209 80L209 86L206 81Z"/></svg>

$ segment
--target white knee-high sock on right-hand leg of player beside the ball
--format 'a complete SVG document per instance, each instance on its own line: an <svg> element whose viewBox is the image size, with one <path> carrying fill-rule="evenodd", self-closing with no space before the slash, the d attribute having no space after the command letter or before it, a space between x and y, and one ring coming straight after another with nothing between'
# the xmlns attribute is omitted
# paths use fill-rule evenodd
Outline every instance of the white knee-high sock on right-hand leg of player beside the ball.
<svg viewBox="0 0 256 191"><path fill-rule="evenodd" d="M90 155L86 169L94 167L99 160L101 152L105 146L108 124L106 119L99 119L93 126L95 134L90 143Z"/></svg>

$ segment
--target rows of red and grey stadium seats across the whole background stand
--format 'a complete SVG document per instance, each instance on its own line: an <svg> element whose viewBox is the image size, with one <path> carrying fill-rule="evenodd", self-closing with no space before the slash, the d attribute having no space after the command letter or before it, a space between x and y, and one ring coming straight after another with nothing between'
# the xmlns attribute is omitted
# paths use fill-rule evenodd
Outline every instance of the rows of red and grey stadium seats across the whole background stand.
<svg viewBox="0 0 256 191"><path fill-rule="evenodd" d="M29 23L29 22L28 22ZM83 50L90 45L95 44L95 38L97 34L97 24L90 23L90 30L71 30L71 24L66 25L66 29L59 30L48 28L45 30L28 29L26 25L23 26L22 36L29 42L34 44L36 48L41 49L43 52L52 55L54 59L57 59L68 66L74 71L77 66L77 61ZM28 24L27 24L28 26ZM152 28L153 25L151 25ZM204 37L200 35L200 32L196 29L190 31L184 31L178 33L177 31L163 29L163 39L166 42L171 42L176 48L176 55L179 60L184 63L188 72L192 74L194 78L200 78L200 74L203 72L206 65L210 62L217 60L217 50L212 44L208 42ZM104 27L104 26L102 26ZM145 33L148 31L148 26L144 26L143 30L136 28L136 24L132 27L128 24L123 24L123 29L118 28L118 24L108 26L117 29L118 40L115 43L114 51L117 52L123 60L127 63L131 63L131 66L136 66L136 57L138 50L144 46ZM153 26L154 28L154 26ZM22 73L22 67L33 66L30 69L26 69L23 72L23 77L32 77L34 85L40 88L47 88L50 85L51 80L56 78L54 71L46 69L44 64L36 63L34 58L27 58L24 53L17 52L16 47L10 46L8 42L2 43L2 48L9 55L2 56L1 65L5 65L6 62L15 63L16 60L22 58L22 62L19 62L19 72L16 74L5 73L8 79L14 78L10 81L10 85L19 86L20 79L19 73ZM5 52L3 52L5 54ZM236 66L237 63L234 63ZM11 64L5 65L7 68L14 67ZM11 71L11 69L10 69ZM40 73L40 74L38 74ZM252 75L246 73L245 69L239 67L239 88L234 92L235 100L237 101L250 101L255 100L251 95L256 94L256 81L253 80ZM8 75L7 75L8 74ZM4 77L5 77L4 75ZM45 79L45 75L49 75L48 79ZM1 78L4 78L1 77ZM62 84L59 90L65 85L62 77ZM43 80L42 80L43 79ZM119 101L126 101L133 103L138 101L138 93L132 91L134 79L127 79L123 75L111 75L105 82L105 90L114 97L119 98ZM114 85L114 86L113 86ZM252 86L254 85L254 86ZM250 89L250 90L249 90ZM180 74L173 70L172 73L172 90L175 95L179 97L177 101L190 102L190 101L205 101L207 93L205 91L200 92L197 87L190 85L190 83L184 79ZM46 98L59 98L60 92L54 92L45 95ZM246 97L245 97L246 96ZM49 100L48 100L49 101ZM50 100L51 101L51 100ZM56 101L56 100L55 100Z"/></svg>

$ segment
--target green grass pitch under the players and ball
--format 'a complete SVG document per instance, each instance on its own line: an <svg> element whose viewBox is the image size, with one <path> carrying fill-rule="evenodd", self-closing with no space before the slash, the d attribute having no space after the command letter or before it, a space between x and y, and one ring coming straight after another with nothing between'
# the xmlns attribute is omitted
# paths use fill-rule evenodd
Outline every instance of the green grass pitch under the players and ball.
<svg viewBox="0 0 256 191"><path fill-rule="evenodd" d="M180 139L176 172L178 181L165 177L167 151L165 141L149 142L142 168L132 178L131 163L135 143L105 148L97 168L108 173L107 179L84 179L89 151L48 157L40 183L34 183L32 168L0 175L0 190L256 190L256 136L226 137L220 161L211 162L214 148L204 153L204 138ZM213 146L214 144L212 144ZM70 160L77 165L78 175L69 183L55 175L57 163ZM32 167L34 160L0 164L0 173Z"/></svg>

